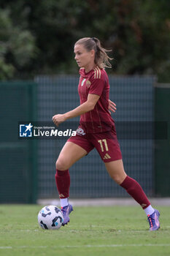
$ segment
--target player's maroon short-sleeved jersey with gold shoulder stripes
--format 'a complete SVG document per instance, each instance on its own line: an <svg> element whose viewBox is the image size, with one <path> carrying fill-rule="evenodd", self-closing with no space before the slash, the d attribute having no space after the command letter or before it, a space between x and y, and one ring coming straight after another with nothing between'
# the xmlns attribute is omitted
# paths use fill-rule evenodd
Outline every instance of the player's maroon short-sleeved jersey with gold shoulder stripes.
<svg viewBox="0 0 170 256"><path fill-rule="evenodd" d="M85 133L106 132L115 127L115 122L108 110L109 79L104 69L96 66L90 72L85 73L85 69L81 68L78 92L80 105L87 101L88 94L100 96L95 108L80 116L80 128Z"/></svg>

